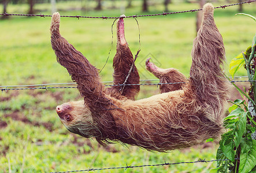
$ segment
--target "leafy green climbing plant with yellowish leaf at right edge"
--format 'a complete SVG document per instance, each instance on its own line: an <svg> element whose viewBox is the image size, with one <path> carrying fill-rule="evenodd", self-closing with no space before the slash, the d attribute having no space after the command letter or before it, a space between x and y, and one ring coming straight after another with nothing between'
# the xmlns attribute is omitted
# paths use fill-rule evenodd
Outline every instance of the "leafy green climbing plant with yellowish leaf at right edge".
<svg viewBox="0 0 256 173"><path fill-rule="evenodd" d="M256 18L239 13L248 17ZM245 96L248 101L237 99L231 101L233 104L229 108L229 115L224 119L224 126L227 133L222 135L220 146L217 150L217 168L211 172L254 172L256 171L256 35L253 44L248 47L246 52L242 52L235 57L229 67L229 73L232 77L244 66L247 70L247 76L251 83L248 93L242 91L235 83L232 85Z"/></svg>

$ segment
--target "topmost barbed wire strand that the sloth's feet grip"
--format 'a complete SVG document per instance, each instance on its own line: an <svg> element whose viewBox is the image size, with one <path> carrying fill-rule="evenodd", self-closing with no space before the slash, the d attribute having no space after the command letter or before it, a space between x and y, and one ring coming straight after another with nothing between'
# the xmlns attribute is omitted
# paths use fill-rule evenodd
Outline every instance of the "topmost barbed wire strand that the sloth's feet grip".
<svg viewBox="0 0 256 173"><path fill-rule="evenodd" d="M221 6L217 6L214 7L214 9L225 9L225 7L229 7L229 6L235 6L235 5L241 5L243 3L248 3L250 5L250 3L252 2L256 2L256 0L251 0L251 1L246 1L246 2L240 2L240 3L233 3L233 4L229 4L229 5L221 5ZM194 10L185 10L185 11L181 11L181 12L169 12L169 13L160 13L160 14L145 14L145 15L132 15L132 16L127 16L125 18L136 18L136 17L150 17L150 16L167 16L169 14L179 14L179 13L187 13L187 12L197 12L197 11L201 11L202 9L194 9ZM42 13L40 14L9 14L9 13L2 13L0 14L0 16L31 16L31 17L51 17L51 15L44 15ZM120 17L106 17L103 16L102 17L94 17L94 16L61 16L61 17L73 17L73 18L102 18L102 20L107 19L107 18L120 18Z"/></svg>

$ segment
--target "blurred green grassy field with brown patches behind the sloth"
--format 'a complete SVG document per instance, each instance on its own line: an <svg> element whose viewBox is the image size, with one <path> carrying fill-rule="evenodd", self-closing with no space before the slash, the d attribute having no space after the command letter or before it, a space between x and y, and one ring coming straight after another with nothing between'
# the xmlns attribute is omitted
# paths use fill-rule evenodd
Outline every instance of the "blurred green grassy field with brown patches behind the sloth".
<svg viewBox="0 0 256 173"><path fill-rule="evenodd" d="M127 16L140 13L140 1L126 9ZM195 3L169 5L172 11L198 9ZM216 3L215 6L225 3ZM57 3L61 15L120 16L120 9L101 12L77 10L80 2ZM93 6L86 4L88 6ZM117 4L116 6L118 6ZM25 13L28 5L9 5L8 13ZM50 14L48 5L35 5ZM256 3L243 5L244 13L256 16ZM2 9L2 6L0 6ZM71 11L70 9L76 9ZM155 4L150 14L162 13L164 7ZM235 16L238 6L217 9L215 21L225 44L227 65L232 58L251 45L256 23L248 17ZM39 12L40 13L40 12ZM125 19L125 36L133 52L141 52L136 61L141 79L155 79L144 69L148 57L162 68L175 67L188 76L190 52L195 33L196 13ZM99 69L106 62L112 47L111 26L114 20L61 18L61 33ZM50 44L51 18L11 17L0 20L0 85L47 84L71 82L64 67L56 62ZM102 81L112 80L112 59L116 47L116 31L109 61L102 70ZM228 73L227 73L228 75ZM239 76L246 75L242 70ZM156 86L142 86L138 99L158 93ZM76 89L48 89L0 92L0 172L50 172L84 170L89 168L136 166L142 164L215 159L217 144L203 144L169 153L147 152L136 146L121 144L100 146L93 139L69 133L55 113L58 104L81 97ZM179 164L144 167L125 172L209 172L216 163ZM104 172L123 172L109 170ZM102 171L103 172L103 171Z"/></svg>

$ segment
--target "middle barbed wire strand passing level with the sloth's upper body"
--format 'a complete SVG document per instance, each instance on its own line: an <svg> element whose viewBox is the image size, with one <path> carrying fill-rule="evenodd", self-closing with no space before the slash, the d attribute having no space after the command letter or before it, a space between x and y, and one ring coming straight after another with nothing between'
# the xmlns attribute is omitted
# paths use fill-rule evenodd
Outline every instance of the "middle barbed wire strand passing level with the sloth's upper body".
<svg viewBox="0 0 256 173"><path fill-rule="evenodd" d="M244 78L244 76L240 77L234 77L234 78ZM149 82L149 81L158 81L158 80L140 80L141 82ZM111 83L112 81L106 81L103 83ZM256 82L256 80L231 80L227 81L230 83L235 82ZM174 84L185 84L187 82L168 82L168 83L145 83L145 84L112 84L112 85L105 85L105 86L131 86L131 85L174 85ZM71 89L71 88L77 88L77 86L47 86L47 85L76 85L75 82L70 83L55 83L55 84L35 84L35 85L4 85L0 86L0 91L10 91L10 90L32 90L32 89ZM41 86L41 87L35 87L35 86ZM27 87L27 88L21 88L21 87Z"/></svg>

